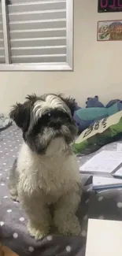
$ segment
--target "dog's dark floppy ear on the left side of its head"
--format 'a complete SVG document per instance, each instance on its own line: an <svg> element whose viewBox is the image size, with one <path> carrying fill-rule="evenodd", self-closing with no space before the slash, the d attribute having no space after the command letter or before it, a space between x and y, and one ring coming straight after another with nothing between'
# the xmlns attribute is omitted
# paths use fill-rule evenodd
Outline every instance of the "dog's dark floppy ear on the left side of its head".
<svg viewBox="0 0 122 256"><path fill-rule="evenodd" d="M26 132L30 122L30 103L17 103L13 106L13 109L9 113L9 117L15 121L17 126L21 128L23 132Z"/></svg>

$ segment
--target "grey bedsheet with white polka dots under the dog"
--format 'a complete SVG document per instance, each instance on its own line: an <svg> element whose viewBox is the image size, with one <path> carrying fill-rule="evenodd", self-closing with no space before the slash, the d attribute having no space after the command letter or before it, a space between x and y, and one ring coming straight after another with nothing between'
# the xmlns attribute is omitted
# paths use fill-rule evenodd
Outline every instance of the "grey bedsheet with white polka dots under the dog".
<svg viewBox="0 0 122 256"><path fill-rule="evenodd" d="M83 186L83 196L77 215L82 228L81 236L60 236L50 233L41 241L29 236L27 218L20 204L9 198L9 169L17 158L22 143L20 129L15 125L0 132L0 239L20 256L85 256L87 221L89 217L121 220L121 191L95 195L91 184ZM108 146L109 147L109 146ZM115 149L115 143L110 146ZM79 166L91 156L78 158ZM83 176L83 185L88 176Z"/></svg>

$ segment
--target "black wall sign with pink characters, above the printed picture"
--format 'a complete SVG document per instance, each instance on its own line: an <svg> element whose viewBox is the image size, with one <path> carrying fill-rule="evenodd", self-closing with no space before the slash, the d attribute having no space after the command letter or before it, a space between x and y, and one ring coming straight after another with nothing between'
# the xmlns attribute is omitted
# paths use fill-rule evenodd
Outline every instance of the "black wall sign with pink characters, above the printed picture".
<svg viewBox="0 0 122 256"><path fill-rule="evenodd" d="M122 12L122 0L98 0L98 13Z"/></svg>

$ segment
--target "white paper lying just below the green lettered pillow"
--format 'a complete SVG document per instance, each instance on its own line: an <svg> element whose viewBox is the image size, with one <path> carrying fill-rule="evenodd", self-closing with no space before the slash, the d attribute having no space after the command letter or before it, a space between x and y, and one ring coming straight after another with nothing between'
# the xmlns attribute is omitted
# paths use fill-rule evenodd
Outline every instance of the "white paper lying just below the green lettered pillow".
<svg viewBox="0 0 122 256"><path fill-rule="evenodd" d="M93 158L79 167L79 170L86 173L112 173L122 162L122 152L102 150Z"/></svg>

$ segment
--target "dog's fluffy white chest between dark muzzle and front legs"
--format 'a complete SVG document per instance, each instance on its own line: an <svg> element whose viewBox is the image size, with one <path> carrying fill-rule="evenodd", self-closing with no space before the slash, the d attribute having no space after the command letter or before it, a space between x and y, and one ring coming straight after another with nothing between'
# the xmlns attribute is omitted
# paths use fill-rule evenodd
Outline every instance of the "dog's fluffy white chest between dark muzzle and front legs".
<svg viewBox="0 0 122 256"><path fill-rule="evenodd" d="M79 183L76 158L73 154L68 154L67 150L64 153L56 148L54 154L50 154L49 148L47 154L39 156L31 152L24 143L20 150L17 170L24 191L32 193L41 189L47 201L50 201L52 196L59 198Z"/></svg>

